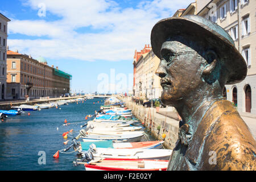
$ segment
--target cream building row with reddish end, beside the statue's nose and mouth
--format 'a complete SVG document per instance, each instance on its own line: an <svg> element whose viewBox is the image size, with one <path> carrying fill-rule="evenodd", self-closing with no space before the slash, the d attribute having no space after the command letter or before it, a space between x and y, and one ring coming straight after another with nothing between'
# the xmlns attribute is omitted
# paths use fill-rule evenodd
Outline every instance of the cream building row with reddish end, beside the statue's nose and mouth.
<svg viewBox="0 0 256 182"><path fill-rule="evenodd" d="M147 51L145 50L147 48ZM145 51L144 51L145 50ZM162 94L160 77L155 75L160 60L155 56L151 47L145 46L139 57L134 56L134 96L145 100L159 98ZM141 53L140 52L140 53ZM138 59L136 59L138 58Z"/></svg>

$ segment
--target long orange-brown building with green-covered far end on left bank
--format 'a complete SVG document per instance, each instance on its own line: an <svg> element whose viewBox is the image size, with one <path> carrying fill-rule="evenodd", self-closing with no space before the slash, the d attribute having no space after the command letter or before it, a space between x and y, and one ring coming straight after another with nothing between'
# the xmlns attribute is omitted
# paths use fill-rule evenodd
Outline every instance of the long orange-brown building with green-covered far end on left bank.
<svg viewBox="0 0 256 182"><path fill-rule="evenodd" d="M43 57L7 50L7 99L59 97L69 93L71 78Z"/></svg>

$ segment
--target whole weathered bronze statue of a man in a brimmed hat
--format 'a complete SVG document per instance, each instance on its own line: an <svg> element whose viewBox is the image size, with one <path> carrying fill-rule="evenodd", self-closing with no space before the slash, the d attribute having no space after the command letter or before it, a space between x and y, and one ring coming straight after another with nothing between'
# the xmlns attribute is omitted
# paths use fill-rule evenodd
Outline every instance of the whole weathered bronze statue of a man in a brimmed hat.
<svg viewBox="0 0 256 182"><path fill-rule="evenodd" d="M166 18L152 28L151 46L161 100L183 120L168 170L255 170L255 139L222 97L225 84L247 74L229 34L200 16Z"/></svg>

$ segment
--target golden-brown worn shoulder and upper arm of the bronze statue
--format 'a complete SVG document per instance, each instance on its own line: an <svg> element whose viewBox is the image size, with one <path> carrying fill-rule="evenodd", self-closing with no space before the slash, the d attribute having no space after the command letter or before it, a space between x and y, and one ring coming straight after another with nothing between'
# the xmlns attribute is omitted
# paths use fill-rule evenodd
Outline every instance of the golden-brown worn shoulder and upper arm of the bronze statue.
<svg viewBox="0 0 256 182"><path fill-rule="evenodd" d="M217 170L255 170L256 142L246 123L229 101L213 105L203 118L205 128L203 158L216 155L216 164L204 164Z"/></svg>

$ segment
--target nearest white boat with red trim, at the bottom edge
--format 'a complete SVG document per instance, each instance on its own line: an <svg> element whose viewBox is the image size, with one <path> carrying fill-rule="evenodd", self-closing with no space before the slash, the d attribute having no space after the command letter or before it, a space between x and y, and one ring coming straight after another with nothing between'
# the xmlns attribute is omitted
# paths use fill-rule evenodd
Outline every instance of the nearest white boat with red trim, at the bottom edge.
<svg viewBox="0 0 256 182"><path fill-rule="evenodd" d="M83 164L85 171L166 171L168 160L110 158Z"/></svg>

